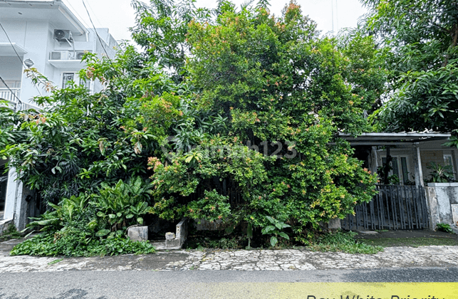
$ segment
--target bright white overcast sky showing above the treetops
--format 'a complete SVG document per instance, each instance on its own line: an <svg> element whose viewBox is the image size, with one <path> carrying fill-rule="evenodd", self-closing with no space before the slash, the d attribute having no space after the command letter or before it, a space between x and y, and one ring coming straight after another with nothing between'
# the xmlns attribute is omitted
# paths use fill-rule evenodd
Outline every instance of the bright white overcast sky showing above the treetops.
<svg viewBox="0 0 458 299"><path fill-rule="evenodd" d="M147 0L145 0L147 1ZM63 0L71 11L83 21L87 27L92 27L82 0ZM232 0L237 7L246 0ZM270 0L271 13L281 15L281 9L288 0ZM318 23L318 30L322 33L337 33L341 28L355 27L358 19L367 12L359 0L297 0L303 14L311 17ZM135 24L135 12L130 6L130 0L85 0L90 17L98 28L109 28L116 40L130 40L128 28ZM254 1L256 4L256 0ZM214 9L216 0L197 0L197 7Z"/></svg>

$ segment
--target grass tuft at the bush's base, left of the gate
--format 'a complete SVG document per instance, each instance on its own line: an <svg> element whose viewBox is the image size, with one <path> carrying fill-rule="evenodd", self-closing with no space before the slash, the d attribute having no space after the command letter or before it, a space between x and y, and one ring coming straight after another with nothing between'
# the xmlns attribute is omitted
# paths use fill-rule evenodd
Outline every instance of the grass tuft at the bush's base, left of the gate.
<svg viewBox="0 0 458 299"><path fill-rule="evenodd" d="M308 249L313 251L341 251L345 253L373 254L383 251L382 246L363 243L355 240L358 235L354 231L337 231L335 233L323 234L313 239Z"/></svg>

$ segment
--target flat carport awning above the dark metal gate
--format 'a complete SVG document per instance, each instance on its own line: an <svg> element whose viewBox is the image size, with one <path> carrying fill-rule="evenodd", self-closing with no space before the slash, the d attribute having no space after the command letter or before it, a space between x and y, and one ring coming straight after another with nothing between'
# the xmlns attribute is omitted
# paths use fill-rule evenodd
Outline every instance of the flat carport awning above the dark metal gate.
<svg viewBox="0 0 458 299"><path fill-rule="evenodd" d="M432 140L448 140L452 136L449 133L437 132L402 132L402 133L363 133L358 137L339 133L339 137L350 142L350 145L406 145L414 142L426 142Z"/></svg>

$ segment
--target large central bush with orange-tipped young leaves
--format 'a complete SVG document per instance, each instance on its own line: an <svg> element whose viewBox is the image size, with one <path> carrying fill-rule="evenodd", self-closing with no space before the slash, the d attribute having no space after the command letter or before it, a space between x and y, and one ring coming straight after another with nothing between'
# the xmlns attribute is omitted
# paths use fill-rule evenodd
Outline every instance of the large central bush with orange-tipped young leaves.
<svg viewBox="0 0 458 299"><path fill-rule="evenodd" d="M307 227L343 218L372 198L375 177L336 138L369 130L364 110L382 93L382 80L368 80L380 66L371 38L347 38L338 49L293 2L281 18L222 2L215 19L189 22L187 42L185 82L199 93L174 141L198 147L183 153L170 145L175 153L167 162L150 159L155 213L248 221L255 228L274 216L302 238ZM207 125L212 117L228 121ZM222 182L243 203L229 209ZM199 192L204 196L197 201L181 200Z"/></svg>

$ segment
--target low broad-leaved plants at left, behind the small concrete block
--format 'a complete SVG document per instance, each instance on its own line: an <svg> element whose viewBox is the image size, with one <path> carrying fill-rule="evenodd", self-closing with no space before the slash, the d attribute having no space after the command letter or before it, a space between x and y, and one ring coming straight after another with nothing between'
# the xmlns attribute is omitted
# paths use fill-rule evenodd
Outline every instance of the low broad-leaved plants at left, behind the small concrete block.
<svg viewBox="0 0 458 299"><path fill-rule="evenodd" d="M49 232L72 228L90 237L123 236L128 226L143 224L142 216L151 209L145 198L150 188L149 183L142 184L140 177L127 183L120 180L114 187L103 183L100 193L81 193L58 204L48 203L53 210L28 226Z"/></svg>

